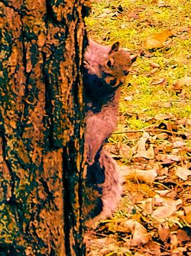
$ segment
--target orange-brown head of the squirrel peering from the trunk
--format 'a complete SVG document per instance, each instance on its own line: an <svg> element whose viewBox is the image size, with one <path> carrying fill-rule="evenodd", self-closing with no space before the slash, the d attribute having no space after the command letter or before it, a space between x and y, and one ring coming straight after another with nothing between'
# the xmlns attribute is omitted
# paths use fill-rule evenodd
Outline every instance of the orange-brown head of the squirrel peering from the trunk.
<svg viewBox="0 0 191 256"><path fill-rule="evenodd" d="M131 71L131 64L135 62L137 56L119 48L119 42L111 46L111 51L107 58L100 64L101 77L112 87L117 87L124 83L126 76Z"/></svg>

